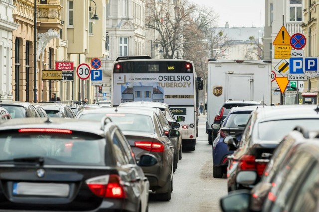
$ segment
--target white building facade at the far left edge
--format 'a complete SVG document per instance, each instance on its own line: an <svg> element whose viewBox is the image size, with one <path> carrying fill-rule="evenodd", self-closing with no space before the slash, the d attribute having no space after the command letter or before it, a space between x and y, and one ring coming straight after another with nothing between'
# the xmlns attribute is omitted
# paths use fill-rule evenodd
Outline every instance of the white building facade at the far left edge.
<svg viewBox="0 0 319 212"><path fill-rule="evenodd" d="M12 31L19 25L13 20L13 0L0 0L0 95L1 100L13 100L12 92Z"/></svg>

